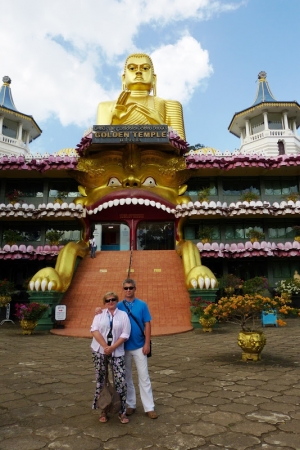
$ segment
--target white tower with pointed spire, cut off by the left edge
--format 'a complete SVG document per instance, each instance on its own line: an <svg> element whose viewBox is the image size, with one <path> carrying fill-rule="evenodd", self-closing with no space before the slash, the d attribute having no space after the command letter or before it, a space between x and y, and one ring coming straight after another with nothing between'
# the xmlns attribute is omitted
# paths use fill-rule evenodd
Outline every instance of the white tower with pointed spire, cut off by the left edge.
<svg viewBox="0 0 300 450"><path fill-rule="evenodd" d="M29 143L39 137L42 130L32 116L19 112L11 93L11 79L3 77L0 90L0 154L26 155Z"/></svg>

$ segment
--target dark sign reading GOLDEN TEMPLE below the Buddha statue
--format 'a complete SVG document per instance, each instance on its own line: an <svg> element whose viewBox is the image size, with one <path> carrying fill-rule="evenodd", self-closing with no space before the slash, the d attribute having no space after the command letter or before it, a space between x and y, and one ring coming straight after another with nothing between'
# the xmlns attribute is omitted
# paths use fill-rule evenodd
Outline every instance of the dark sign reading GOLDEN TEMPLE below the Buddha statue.
<svg viewBox="0 0 300 450"><path fill-rule="evenodd" d="M94 125L93 143L168 143L168 125Z"/></svg>

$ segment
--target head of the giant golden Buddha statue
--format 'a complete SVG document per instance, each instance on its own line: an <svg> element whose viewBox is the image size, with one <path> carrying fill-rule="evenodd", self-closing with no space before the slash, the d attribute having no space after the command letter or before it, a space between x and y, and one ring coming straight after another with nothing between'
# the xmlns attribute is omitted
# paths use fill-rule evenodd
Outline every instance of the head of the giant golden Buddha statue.
<svg viewBox="0 0 300 450"><path fill-rule="evenodd" d="M148 91L156 95L156 75L150 56L133 53L126 59L122 75L122 88L129 91Z"/></svg>

